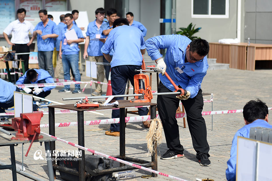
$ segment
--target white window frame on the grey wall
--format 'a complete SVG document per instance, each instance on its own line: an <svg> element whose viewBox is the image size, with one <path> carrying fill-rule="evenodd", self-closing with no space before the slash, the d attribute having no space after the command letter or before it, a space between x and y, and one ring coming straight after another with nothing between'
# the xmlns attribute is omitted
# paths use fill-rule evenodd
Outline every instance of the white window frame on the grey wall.
<svg viewBox="0 0 272 181"><path fill-rule="evenodd" d="M192 18L228 18L229 17L229 0L225 0L226 2L226 9L225 9L225 12L226 14L225 15L212 15L211 14L211 2L212 0L208 0L209 1L209 12L208 12L208 15L195 15L194 14L194 0L192 0L191 2L191 16Z"/></svg>

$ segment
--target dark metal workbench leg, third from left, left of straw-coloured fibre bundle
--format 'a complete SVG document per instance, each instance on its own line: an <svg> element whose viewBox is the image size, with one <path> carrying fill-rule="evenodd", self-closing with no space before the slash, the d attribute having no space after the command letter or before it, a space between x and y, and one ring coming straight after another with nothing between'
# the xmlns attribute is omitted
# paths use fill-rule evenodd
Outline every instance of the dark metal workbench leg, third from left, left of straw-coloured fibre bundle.
<svg viewBox="0 0 272 181"><path fill-rule="evenodd" d="M125 138L125 108L120 108L119 114L119 121L120 121L120 157L123 160L126 156L126 138ZM120 163L120 167L125 166L125 164Z"/></svg>

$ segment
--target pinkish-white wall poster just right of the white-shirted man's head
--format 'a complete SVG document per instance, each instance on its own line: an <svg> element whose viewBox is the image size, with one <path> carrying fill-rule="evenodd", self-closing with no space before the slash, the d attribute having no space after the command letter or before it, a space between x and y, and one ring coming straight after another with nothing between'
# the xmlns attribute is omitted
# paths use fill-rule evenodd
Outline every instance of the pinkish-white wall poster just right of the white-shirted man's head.
<svg viewBox="0 0 272 181"><path fill-rule="evenodd" d="M41 21L38 12L42 9L42 0L20 0L20 8L26 10L25 20L34 27Z"/></svg>

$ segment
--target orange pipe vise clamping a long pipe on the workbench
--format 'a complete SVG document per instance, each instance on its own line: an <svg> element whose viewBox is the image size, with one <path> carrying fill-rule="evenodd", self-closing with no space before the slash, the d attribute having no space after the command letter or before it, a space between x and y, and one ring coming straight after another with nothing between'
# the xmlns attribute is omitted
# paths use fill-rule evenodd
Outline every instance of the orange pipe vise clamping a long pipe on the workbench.
<svg viewBox="0 0 272 181"><path fill-rule="evenodd" d="M144 80L145 83L145 89L143 89L140 81ZM141 88L139 87L139 83L141 85ZM135 94L143 94L143 96L135 96L134 99L131 99L130 102L151 102L151 99L153 99L153 95L151 92L151 87L149 85L149 77L148 75L145 75L143 73L134 75L134 93Z"/></svg>

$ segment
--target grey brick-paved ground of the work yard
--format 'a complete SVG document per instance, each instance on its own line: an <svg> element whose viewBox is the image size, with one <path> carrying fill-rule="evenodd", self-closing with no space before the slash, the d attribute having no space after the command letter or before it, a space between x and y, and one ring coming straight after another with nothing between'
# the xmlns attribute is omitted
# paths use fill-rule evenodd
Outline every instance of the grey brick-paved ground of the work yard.
<svg viewBox="0 0 272 181"><path fill-rule="evenodd" d="M147 59L147 58L146 58ZM89 78L82 75L82 81L87 81ZM63 76L63 75L62 75ZM62 77L60 77L62 78ZM213 93L214 103L213 110L234 110L243 109L243 106L249 100L260 98L267 103L268 107L272 107L271 87L272 87L272 71L271 70L256 70L243 71L237 69L229 70L213 70L208 71L202 83L203 93ZM155 87L155 76L153 76L153 87ZM81 85L82 87L84 85ZM57 87L52 90L52 93L47 97L50 100L63 102L62 98L90 96L90 86L87 86L84 93L58 93L62 87ZM71 86L73 90L74 86ZM94 86L93 86L94 88ZM106 92L106 86L103 85L103 94ZM204 96L205 99L210 99L210 96ZM156 96L154 100L156 102ZM74 103L74 101L66 101L65 104ZM45 109L47 110L47 109ZM203 111L210 111L211 103L204 103ZM85 120L98 120L111 117L111 111L102 111L104 115L93 113L84 113ZM269 114L272 112L269 111ZM131 115L133 116L133 115ZM187 128L183 128L183 120L178 119L180 140L185 148L184 158L172 160L160 160L159 156L166 150L166 142L163 135L163 143L159 146L158 152L158 170L180 177L186 180L196 180L196 178L212 178L214 180L226 180L225 170L226 162L229 158L232 138L235 132L244 125L243 114L219 114L213 116L213 130L211 130L211 116L204 116L207 125L208 143L210 145L210 160L211 166L202 167L199 165L195 156L195 151L192 148L191 136ZM75 113L56 114L56 122L75 122L77 117ZM48 123L48 115L44 115L41 124ZM86 126L85 129L85 146L94 149L98 152L103 152L111 156L119 154L119 138L105 135L105 130L108 130L109 125ZM43 132L48 133L48 128L42 128ZM151 160L150 155L147 155L145 136L147 129L141 123L128 123L126 127L126 155L135 158ZM77 143L77 127L56 128L56 136L65 140ZM29 144L25 144L24 153ZM56 141L58 150L77 150L76 148ZM0 147L1 155L0 162L10 163L9 147ZM26 171L29 174L38 178L48 180L46 161L35 161L33 154L36 150L44 150L44 145L34 143L31 147L28 157L24 157ZM88 154L88 153L87 153ZM15 147L16 163L21 164L21 145ZM115 163L118 166L118 163ZM136 170L136 177L128 180L144 180L141 178L143 174L150 174L143 170ZM12 180L11 170L0 170L1 180ZM17 174L17 179L26 181L31 180L20 174ZM62 180L57 172L57 180ZM158 176L157 178L149 178L149 180L161 181L169 180L166 177Z"/></svg>

